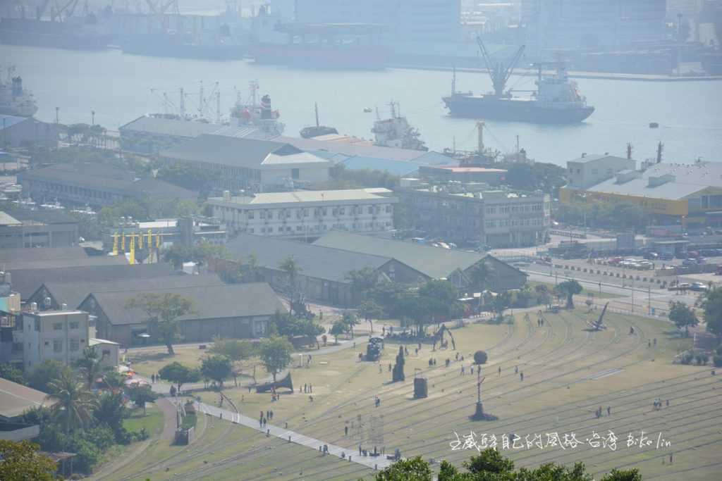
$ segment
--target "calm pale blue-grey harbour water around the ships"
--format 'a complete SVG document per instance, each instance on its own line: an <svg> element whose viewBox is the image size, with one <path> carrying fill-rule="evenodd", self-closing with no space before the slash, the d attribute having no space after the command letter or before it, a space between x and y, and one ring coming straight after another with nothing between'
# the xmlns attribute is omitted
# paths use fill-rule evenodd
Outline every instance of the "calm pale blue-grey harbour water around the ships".
<svg viewBox="0 0 722 481"><path fill-rule="evenodd" d="M440 97L451 89L444 71L388 69L386 71L305 71L256 66L243 61L211 62L123 55L118 50L85 52L0 45L0 65L14 64L25 87L32 90L41 120L54 120L60 107L62 123L95 121L115 130L149 112L162 112L162 92L178 104L178 89L188 93L186 109L198 107L200 81L206 94L215 82L221 91L224 115L235 102L235 89L248 95L248 82L257 80L261 94L271 95L286 123L285 133L297 136L314 122L318 102L321 123L344 133L369 138L377 107L388 115L388 102L419 128L430 149L474 149L474 120L446 115ZM513 77L510 85L531 89L534 79ZM487 121L486 144L500 151L520 145L537 160L564 165L582 152L623 155L627 142L634 156L654 156L665 145L667 162L690 162L697 157L722 162L722 81L640 82L578 79L580 90L596 112L577 125L533 125ZM459 73L458 89L485 92L486 74ZM152 93L155 89L156 93ZM215 102L209 107L213 115ZM658 129L648 128L657 122Z"/></svg>

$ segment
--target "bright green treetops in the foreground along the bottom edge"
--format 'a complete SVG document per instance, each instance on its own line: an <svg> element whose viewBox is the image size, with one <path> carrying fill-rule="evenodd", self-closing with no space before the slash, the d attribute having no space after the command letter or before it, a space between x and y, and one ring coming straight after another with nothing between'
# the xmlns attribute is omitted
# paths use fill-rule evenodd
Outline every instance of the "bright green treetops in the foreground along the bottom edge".
<svg viewBox="0 0 722 481"><path fill-rule="evenodd" d="M438 477L434 477L430 464L417 456L393 463L379 472L376 481L593 481L583 463L568 468L554 463L542 464L536 469L514 469L514 462L506 459L495 449L482 451L464 462L464 472L452 464L441 462ZM601 481L641 481L637 469L618 471L614 469Z"/></svg>

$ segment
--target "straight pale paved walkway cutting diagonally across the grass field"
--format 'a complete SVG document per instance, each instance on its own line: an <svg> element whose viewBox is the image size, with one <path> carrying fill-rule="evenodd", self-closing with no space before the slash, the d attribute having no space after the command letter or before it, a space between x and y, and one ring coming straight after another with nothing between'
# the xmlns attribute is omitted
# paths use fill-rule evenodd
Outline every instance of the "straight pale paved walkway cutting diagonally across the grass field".
<svg viewBox="0 0 722 481"><path fill-rule="evenodd" d="M326 445L329 447L329 455L337 456L342 459L344 459L345 456L346 460L349 460L350 456L351 462L361 464L362 466L368 467L370 469L384 469L390 466L392 463L391 461L386 459L386 456L359 456L358 451L355 451L353 449L346 449L342 446L324 443L323 441L319 441L318 439L309 438L308 436L304 436L301 433L296 433L295 431L290 431L285 428L279 428L278 426L274 426L271 424L266 424L265 428L261 428L258 425L257 419L249 418L248 416L238 414L229 410L220 409L219 407L215 407L212 405L207 405L204 402L196 402L196 410L215 416L217 418L230 420L232 423L235 424L240 424L248 428L255 429L259 433L269 432L270 436L276 436L277 438L283 439L284 441L289 441L290 438L290 442L300 444L301 446L306 446L316 451L318 451L318 448L320 446L321 449L323 449L322 446Z"/></svg>

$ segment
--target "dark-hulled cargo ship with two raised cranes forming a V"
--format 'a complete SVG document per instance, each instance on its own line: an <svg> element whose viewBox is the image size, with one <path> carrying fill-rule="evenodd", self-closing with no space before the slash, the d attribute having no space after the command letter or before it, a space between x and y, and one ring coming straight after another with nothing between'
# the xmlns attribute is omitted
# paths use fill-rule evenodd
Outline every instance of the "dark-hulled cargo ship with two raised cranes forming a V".
<svg viewBox="0 0 722 481"><path fill-rule="evenodd" d="M574 81L567 76L565 64L561 61L536 63L539 70L537 89L526 97L516 97L505 85L524 51L522 45L508 63L492 63L484 43L477 38L482 56L492 79L494 92L474 95L473 92L456 92L456 74L452 81L452 93L443 101L454 117L484 118L488 120L510 120L531 123L578 123L594 112L586 104ZM551 76L542 75L544 66L554 66Z"/></svg>

